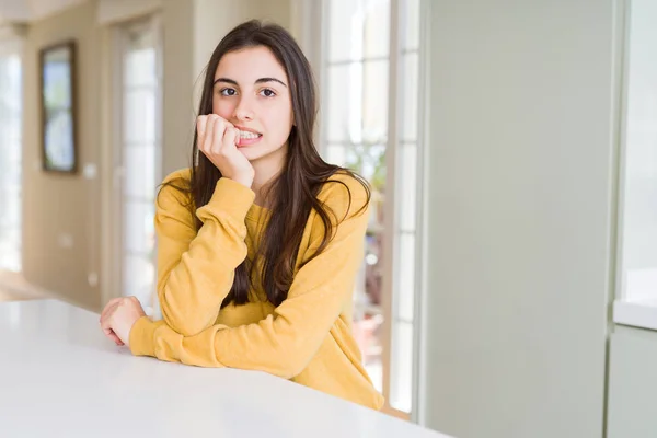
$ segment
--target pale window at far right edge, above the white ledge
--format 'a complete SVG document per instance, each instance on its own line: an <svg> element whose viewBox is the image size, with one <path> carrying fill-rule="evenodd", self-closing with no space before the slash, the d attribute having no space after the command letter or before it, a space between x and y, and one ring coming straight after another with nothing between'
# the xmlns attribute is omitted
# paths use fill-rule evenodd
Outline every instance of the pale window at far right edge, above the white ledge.
<svg viewBox="0 0 657 438"><path fill-rule="evenodd" d="M633 0L629 9L620 290L657 306L657 3Z"/></svg>

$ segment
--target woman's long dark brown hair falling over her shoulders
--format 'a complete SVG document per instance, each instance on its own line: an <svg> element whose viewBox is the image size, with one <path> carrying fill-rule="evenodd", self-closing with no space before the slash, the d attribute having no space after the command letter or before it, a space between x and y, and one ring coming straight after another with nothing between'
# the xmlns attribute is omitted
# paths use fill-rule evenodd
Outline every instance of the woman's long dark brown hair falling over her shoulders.
<svg viewBox="0 0 657 438"><path fill-rule="evenodd" d="M313 143L313 128L318 113L315 84L308 59L293 37L281 26L252 20L242 23L229 32L217 45L207 65L203 94L198 114L212 113L212 89L215 72L221 58L230 53L247 47L267 47L285 69L292 101L295 125L288 138L288 149L284 169L268 187L270 214L264 229L264 235L253 261L246 258L235 269L234 281L221 307L229 303L244 304L249 301L249 290L255 280L262 281L267 300L274 306L280 304L292 284L297 253L301 244L303 229L311 210L315 210L324 226L324 238L318 251L319 255L330 243L334 226L344 218L318 200L318 194L326 183L346 184L330 180L336 173L344 173L362 184L367 201L357 211L365 209L370 199L368 183L354 172L326 163ZM197 159L197 165L195 160ZM205 206L212 196L221 172L203 153L198 153L197 134L194 134L192 148L192 174L189 182L172 181L169 184L189 196L188 208L194 215L196 208ZM351 194L349 192L349 199ZM350 210L350 201L349 208ZM201 222L196 219L196 229ZM311 257L311 258L312 258ZM262 261L262 275L254 276L256 261ZM310 261L310 260L309 260ZM309 262L307 261L307 263Z"/></svg>

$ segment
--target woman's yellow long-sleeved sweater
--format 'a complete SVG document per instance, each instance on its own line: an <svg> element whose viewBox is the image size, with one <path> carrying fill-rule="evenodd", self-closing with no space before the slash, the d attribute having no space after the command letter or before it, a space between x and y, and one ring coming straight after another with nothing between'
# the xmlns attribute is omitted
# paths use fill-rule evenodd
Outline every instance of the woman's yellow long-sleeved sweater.
<svg viewBox="0 0 657 438"><path fill-rule="evenodd" d="M189 178L177 171L165 181ZM158 296L162 321L139 319L130 331L134 355L153 356L201 367L261 370L365 406L380 408L351 335L351 300L362 262L368 215L362 186L327 183L318 198L339 222L324 251L299 268L320 245L323 224L313 210L308 218L288 298L277 308L264 291L251 290L250 302L220 309L235 267L260 242L267 210L253 204L255 194L228 178L217 183L210 201L196 210L196 233L184 195L162 188L157 203ZM347 211L348 208L348 211Z"/></svg>

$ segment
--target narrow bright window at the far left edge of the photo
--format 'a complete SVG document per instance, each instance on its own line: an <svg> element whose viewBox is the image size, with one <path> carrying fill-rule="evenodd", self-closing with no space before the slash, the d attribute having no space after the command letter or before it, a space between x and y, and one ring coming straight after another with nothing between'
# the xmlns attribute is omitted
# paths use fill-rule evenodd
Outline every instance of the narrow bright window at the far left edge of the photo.
<svg viewBox="0 0 657 438"><path fill-rule="evenodd" d="M0 43L0 269L21 270L21 57Z"/></svg>

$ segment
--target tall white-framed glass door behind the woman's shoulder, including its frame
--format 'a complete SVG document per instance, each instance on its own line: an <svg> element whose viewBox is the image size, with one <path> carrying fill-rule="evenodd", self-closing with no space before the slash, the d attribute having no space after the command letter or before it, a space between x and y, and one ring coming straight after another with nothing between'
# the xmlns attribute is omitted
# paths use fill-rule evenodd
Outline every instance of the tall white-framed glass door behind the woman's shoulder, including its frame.
<svg viewBox="0 0 657 438"><path fill-rule="evenodd" d="M372 187L355 335L389 404L412 411L418 265L419 0L323 2L321 149Z"/></svg>

